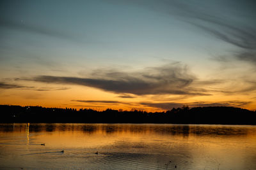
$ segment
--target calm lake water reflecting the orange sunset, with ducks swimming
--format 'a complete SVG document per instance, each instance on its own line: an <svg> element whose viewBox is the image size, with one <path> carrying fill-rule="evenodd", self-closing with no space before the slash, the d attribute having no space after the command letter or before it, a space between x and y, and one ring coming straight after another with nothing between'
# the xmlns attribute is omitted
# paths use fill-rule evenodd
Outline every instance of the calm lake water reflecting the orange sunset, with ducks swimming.
<svg viewBox="0 0 256 170"><path fill-rule="evenodd" d="M256 169L256 126L0 124L0 169L21 167Z"/></svg>

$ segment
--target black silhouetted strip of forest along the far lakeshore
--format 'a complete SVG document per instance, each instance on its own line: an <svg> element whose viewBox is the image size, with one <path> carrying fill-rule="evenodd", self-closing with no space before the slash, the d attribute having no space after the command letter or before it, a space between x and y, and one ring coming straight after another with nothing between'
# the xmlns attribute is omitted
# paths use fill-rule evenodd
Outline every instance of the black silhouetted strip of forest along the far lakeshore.
<svg viewBox="0 0 256 170"><path fill-rule="evenodd" d="M233 107L173 108L164 112L139 110L95 111L92 109L43 108L0 105L0 122L29 123L154 123L154 124L239 124L256 125L256 111Z"/></svg>

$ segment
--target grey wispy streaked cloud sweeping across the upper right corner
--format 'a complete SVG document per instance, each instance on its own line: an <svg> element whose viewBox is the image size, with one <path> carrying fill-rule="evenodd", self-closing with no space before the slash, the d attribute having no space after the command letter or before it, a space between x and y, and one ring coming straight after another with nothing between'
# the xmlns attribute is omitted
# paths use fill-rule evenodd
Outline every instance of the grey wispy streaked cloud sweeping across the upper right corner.
<svg viewBox="0 0 256 170"><path fill-rule="evenodd" d="M136 5L176 17L221 41L236 46L237 52L231 53L232 56L229 58L256 64L255 1L109 0L109 2Z"/></svg>

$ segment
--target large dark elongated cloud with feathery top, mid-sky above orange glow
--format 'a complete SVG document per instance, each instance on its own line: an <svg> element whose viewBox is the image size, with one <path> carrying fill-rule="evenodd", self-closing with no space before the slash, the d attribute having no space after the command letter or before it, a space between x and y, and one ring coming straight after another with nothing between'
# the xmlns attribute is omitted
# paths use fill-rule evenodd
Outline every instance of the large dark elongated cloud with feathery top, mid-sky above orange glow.
<svg viewBox="0 0 256 170"><path fill-rule="evenodd" d="M131 73L97 70L92 74L92 77L35 76L26 80L84 85L119 94L209 95L205 89L191 87L191 83L196 77L189 73L187 66L182 66L178 62L161 67L147 67L142 71Z"/></svg>

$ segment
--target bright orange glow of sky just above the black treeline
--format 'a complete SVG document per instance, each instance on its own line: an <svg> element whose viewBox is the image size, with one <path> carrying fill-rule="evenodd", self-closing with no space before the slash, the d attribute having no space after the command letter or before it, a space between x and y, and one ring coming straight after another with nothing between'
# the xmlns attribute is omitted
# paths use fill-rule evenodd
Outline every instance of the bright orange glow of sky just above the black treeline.
<svg viewBox="0 0 256 170"><path fill-rule="evenodd" d="M41 85L35 83L31 85ZM49 89L57 89L60 85L47 85ZM252 96L253 94L251 94ZM99 89L83 87L78 85L69 85L66 90L29 90L29 89L5 89L1 90L0 104L20 105L20 106L42 106L45 108L81 108L103 111L108 108L113 110L132 109L143 111L166 111L172 108L178 108L184 104L189 107L196 106L211 106L211 103L220 103L220 106L225 106L227 101L234 101L234 107L245 108L248 110L256 110L256 99L243 104L243 101L248 101L248 96L237 94L236 96L225 96L221 93L215 93L211 96L191 96L184 98L182 96L134 96L133 98L122 98L120 94L112 92L104 92ZM170 98L173 97L173 98ZM83 102L84 101L84 102ZM88 102L87 102L88 101ZM99 101L99 102L97 102ZM101 102L103 101L103 102ZM111 103L114 101L114 103ZM149 103L146 105L145 103ZM171 103L170 107L157 107L158 103ZM172 106L172 103L177 103L179 106ZM200 103L202 105L200 105ZM223 105L221 105L223 103ZM239 105L241 103L241 105ZM151 104L151 106L150 106ZM204 105L209 104L209 105ZM168 105L168 104L166 104ZM215 105L214 105L215 106ZM232 106L232 105L227 105Z"/></svg>

